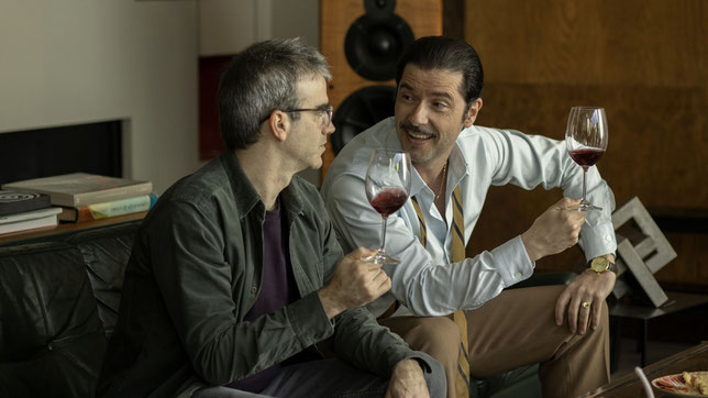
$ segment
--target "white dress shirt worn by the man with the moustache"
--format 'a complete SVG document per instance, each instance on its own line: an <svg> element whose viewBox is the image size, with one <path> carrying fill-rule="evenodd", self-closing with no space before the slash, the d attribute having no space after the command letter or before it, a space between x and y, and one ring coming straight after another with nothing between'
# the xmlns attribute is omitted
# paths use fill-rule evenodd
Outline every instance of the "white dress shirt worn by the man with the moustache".
<svg viewBox="0 0 708 398"><path fill-rule="evenodd" d="M336 156L322 185L321 194L345 253L356 246L380 245L381 217L369 204L364 187L369 156L383 147L401 148L394 118L355 136ZM368 306L377 317L395 299L403 306L396 316L445 316L458 309L474 309L533 273L535 264L520 236L452 263L451 196L455 186L460 185L462 194L465 243L491 185L560 187L569 198L580 198L583 194L580 166L571 159L563 142L544 136L473 125L460 133L449 159L445 214L440 214L433 204L433 191L412 169L410 196L417 198L425 220L425 247L419 241L420 225L410 199L388 217L385 250L400 264L384 266L392 286L390 292ZM579 244L590 259L617 248L611 221L615 199L596 167L587 172L587 197L602 208L588 211L580 230Z"/></svg>

